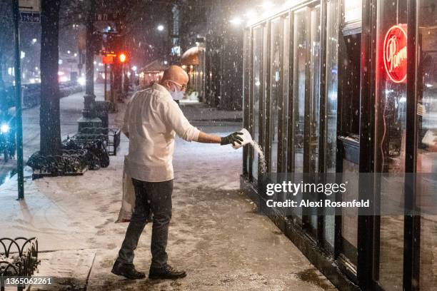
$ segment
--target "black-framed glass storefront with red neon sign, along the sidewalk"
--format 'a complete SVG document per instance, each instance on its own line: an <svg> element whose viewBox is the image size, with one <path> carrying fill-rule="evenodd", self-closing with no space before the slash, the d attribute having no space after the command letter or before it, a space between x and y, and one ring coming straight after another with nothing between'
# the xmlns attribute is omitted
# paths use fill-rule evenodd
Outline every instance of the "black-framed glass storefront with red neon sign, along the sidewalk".
<svg viewBox="0 0 437 291"><path fill-rule="evenodd" d="M246 27L243 90L268 173L436 173L437 2L292 1ZM241 188L258 203L260 170L246 146ZM414 208L405 177L392 202ZM349 194L381 203L388 185L363 183ZM341 290L437 290L435 215L271 219Z"/></svg>

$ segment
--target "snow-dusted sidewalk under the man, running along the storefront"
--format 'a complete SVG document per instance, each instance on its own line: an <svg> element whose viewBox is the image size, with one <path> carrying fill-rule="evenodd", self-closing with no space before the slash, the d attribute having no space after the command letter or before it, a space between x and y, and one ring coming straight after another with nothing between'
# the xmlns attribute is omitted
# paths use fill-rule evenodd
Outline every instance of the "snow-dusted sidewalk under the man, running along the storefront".
<svg viewBox="0 0 437 291"><path fill-rule="evenodd" d="M190 107L191 120L204 116ZM186 108L184 108L186 111ZM218 113L217 113L218 114ZM231 114L231 113L230 113ZM238 113L237 113L238 114ZM216 118L213 118L216 119ZM241 123L200 122L223 135ZM0 237L36 236L39 274L55 277L51 290L334 290L301 252L239 188L241 149L176 140L169 262L181 280L125 280L111 274L127 224L116 224L124 138L111 165L79 177L26 180L26 200L16 201L14 179L0 186ZM151 225L136 250L135 265L148 272ZM32 290L49 290L36 288Z"/></svg>

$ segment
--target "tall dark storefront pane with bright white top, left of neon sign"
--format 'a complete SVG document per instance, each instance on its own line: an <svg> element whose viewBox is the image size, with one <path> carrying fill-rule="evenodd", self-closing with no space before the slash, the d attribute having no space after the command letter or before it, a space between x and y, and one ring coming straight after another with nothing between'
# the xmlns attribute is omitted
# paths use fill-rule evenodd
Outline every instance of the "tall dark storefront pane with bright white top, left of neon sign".
<svg viewBox="0 0 437 291"><path fill-rule="evenodd" d="M359 124L361 117L361 17L358 1L343 1L341 13L342 30L338 39L338 163L336 172L343 173L346 183L348 174L359 172ZM355 11L355 12L354 12ZM329 76L328 72L328 76ZM331 74L332 76L332 74ZM329 86L329 84L327 84ZM329 88L329 87L328 87ZM333 92L329 92L327 102ZM335 97L334 97L335 99ZM335 101L334 101L335 102ZM328 111L327 111L328 112ZM332 126L331 118L331 126ZM332 133L331 133L332 134ZM331 160L331 165L334 160ZM349 185L346 193L339 197L343 201L358 199L358 184ZM341 209L341 223L338 248L341 262L355 274L358 262L358 211L356 208Z"/></svg>

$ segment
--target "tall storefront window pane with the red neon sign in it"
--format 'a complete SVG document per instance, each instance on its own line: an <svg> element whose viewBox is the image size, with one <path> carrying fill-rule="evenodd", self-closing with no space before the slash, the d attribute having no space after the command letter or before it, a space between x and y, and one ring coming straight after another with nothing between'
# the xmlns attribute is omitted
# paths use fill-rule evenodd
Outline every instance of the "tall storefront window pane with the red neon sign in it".
<svg viewBox="0 0 437 291"><path fill-rule="evenodd" d="M403 173L406 145L407 1L378 1L376 58L376 172ZM403 183L381 179L381 213L403 205ZM402 290L403 215L381 215L377 281L385 290Z"/></svg>

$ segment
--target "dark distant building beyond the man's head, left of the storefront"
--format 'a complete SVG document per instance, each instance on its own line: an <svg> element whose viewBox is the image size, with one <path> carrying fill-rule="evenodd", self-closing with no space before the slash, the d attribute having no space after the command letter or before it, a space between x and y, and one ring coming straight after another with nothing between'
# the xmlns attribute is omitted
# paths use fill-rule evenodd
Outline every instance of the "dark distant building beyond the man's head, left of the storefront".
<svg viewBox="0 0 437 291"><path fill-rule="evenodd" d="M186 0L180 6L181 63L199 99L228 110L241 110L243 100L243 25L229 23L238 5L230 0ZM200 53L199 63L187 58L193 58L194 51Z"/></svg>

